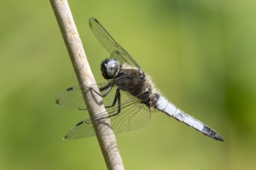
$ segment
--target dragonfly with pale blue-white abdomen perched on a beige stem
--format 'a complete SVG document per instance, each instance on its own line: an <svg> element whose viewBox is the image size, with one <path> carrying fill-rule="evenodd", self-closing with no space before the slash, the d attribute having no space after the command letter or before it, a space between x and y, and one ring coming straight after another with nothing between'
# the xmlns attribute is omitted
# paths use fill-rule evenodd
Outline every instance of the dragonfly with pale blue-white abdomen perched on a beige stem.
<svg viewBox="0 0 256 170"><path fill-rule="evenodd" d="M224 139L211 127L189 116L160 94L151 78L141 69L130 54L114 41L98 20L90 18L90 29L102 46L110 53L109 59L101 64L102 77L108 82L67 88L56 99L56 104L67 109L86 111L81 89L90 90L102 97L108 116L103 113L90 117L75 125L64 139L80 139L96 135L92 122L109 118L113 133L123 133L145 126L153 111L164 112L179 122L223 141ZM100 94L94 88L99 88ZM108 135L108 133L104 133Z"/></svg>

